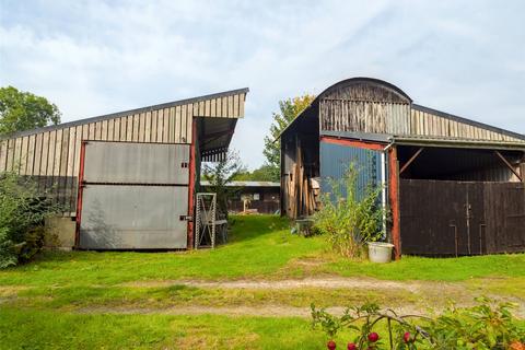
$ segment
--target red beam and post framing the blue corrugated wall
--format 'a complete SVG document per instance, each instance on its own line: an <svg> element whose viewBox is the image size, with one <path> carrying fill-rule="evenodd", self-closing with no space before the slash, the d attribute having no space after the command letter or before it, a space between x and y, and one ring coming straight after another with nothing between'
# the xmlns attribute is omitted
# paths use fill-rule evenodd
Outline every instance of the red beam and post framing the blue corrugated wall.
<svg viewBox="0 0 525 350"><path fill-rule="evenodd" d="M385 151L387 143L377 143L373 141L341 139L337 137L322 136L322 142L355 147L374 151ZM394 255L396 260L401 257L401 236L399 225L399 162L397 160L397 148L392 145L388 149L388 198L392 212L392 243L394 244Z"/></svg>

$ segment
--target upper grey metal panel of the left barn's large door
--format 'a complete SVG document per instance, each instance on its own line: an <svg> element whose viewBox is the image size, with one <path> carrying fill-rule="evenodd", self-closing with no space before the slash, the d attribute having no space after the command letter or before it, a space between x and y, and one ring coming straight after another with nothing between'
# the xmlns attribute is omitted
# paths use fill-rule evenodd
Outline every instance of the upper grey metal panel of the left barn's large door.
<svg viewBox="0 0 525 350"><path fill-rule="evenodd" d="M186 185L188 163L189 144L90 141L85 148L84 180Z"/></svg>

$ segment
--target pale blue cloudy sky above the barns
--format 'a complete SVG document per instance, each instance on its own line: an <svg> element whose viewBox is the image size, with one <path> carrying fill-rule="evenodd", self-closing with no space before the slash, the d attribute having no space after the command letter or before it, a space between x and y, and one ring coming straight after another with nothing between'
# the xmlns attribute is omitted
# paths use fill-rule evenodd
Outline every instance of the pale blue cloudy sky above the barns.
<svg viewBox="0 0 525 350"><path fill-rule="evenodd" d="M0 0L0 86L71 121L249 88L232 148L261 165L279 101L352 77L525 133L525 1Z"/></svg>

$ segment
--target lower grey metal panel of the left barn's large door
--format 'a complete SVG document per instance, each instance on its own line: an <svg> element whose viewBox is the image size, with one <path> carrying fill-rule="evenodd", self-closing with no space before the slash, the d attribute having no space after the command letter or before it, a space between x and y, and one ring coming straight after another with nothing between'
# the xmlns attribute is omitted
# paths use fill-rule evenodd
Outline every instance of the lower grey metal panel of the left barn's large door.
<svg viewBox="0 0 525 350"><path fill-rule="evenodd" d="M88 185L83 189L80 247L186 248L186 186Z"/></svg>

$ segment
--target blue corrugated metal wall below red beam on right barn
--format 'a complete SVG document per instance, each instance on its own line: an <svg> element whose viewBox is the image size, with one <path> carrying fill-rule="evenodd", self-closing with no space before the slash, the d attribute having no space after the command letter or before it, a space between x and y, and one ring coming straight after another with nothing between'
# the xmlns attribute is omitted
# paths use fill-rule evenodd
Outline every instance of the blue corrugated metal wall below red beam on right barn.
<svg viewBox="0 0 525 350"><path fill-rule="evenodd" d="M381 151L320 142L322 191L332 192L331 182L342 179L352 162L359 172L357 179L359 195L364 195L369 185L382 185Z"/></svg>

